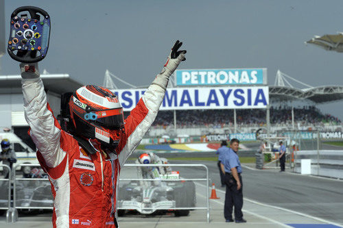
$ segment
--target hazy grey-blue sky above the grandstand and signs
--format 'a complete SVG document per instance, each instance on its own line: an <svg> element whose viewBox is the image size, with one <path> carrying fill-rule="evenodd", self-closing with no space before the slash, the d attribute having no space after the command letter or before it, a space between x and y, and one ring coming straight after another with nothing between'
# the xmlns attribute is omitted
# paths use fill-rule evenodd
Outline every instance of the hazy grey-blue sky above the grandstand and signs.
<svg viewBox="0 0 343 228"><path fill-rule="evenodd" d="M6 0L6 27L15 8L32 3L52 21L40 68L83 84L102 85L108 69L130 84L148 85L179 39L187 49L180 68L268 68L269 84L280 69L311 86L343 86L343 53L304 44L343 31L343 1ZM0 61L1 75L19 73L8 55ZM343 119L342 104L320 108Z"/></svg>

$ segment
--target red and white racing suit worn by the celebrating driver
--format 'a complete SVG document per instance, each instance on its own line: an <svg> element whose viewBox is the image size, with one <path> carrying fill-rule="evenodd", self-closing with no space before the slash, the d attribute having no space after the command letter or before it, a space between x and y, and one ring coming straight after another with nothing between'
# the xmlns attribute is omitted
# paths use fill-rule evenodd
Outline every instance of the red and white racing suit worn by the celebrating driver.
<svg viewBox="0 0 343 228"><path fill-rule="evenodd" d="M38 65L21 64L25 118L37 147L38 161L51 182L54 227L117 227L116 197L121 166L154 122L169 76L183 58L182 54L174 61L169 60L156 76L124 121L125 134L116 153L109 155L100 152L91 141L97 153L88 155L73 136L61 129L47 103Z"/></svg>

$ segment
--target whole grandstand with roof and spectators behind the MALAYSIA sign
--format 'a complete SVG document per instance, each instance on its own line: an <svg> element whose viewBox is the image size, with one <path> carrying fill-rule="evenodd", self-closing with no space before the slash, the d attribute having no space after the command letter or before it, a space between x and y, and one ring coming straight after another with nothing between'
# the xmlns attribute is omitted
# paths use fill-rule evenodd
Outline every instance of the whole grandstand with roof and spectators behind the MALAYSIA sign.
<svg viewBox="0 0 343 228"><path fill-rule="evenodd" d="M113 80L109 78L110 75L106 71L104 86L110 89L118 89ZM305 88L295 88L289 82L291 80ZM121 82L123 81L121 80ZM312 87L278 71L274 86L269 86L269 96L270 105L267 109L160 111L149 134L151 137L155 137L251 133L261 127L267 129L268 119L270 132L289 129L342 130L342 121L329 113L322 113L316 104L342 100L343 86ZM296 102L303 104L296 106L294 105ZM268 112L270 118L268 118ZM128 113L125 114L128 115ZM175 116L177 116L176 119L174 119ZM234 116L236 116L236 120Z"/></svg>

